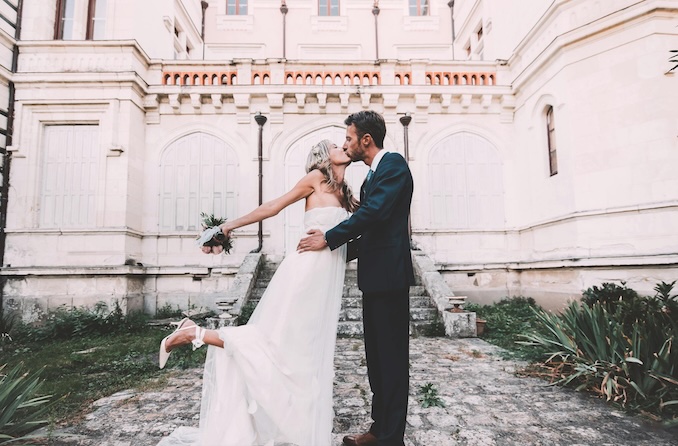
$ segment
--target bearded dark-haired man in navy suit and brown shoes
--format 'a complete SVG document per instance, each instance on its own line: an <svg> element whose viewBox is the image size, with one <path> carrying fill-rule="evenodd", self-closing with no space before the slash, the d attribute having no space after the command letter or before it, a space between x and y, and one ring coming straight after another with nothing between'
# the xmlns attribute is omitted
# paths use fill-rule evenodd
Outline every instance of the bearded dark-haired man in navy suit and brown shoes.
<svg viewBox="0 0 678 446"><path fill-rule="evenodd" d="M358 287L363 292L367 375L372 389L372 426L344 437L347 446L403 446L409 389L409 287L414 284L408 216L413 181L405 159L384 150L386 124L374 111L344 123L344 152L370 166L360 189L360 208L328 230L309 231L299 251L355 240Z"/></svg>

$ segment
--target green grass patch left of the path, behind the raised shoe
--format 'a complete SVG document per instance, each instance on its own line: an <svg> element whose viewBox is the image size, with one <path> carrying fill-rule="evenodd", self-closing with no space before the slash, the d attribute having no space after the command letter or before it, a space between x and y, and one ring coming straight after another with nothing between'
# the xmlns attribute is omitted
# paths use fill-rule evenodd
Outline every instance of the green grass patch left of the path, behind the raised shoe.
<svg viewBox="0 0 678 446"><path fill-rule="evenodd" d="M28 330L23 328L21 332ZM30 330L28 330L30 332ZM91 403L120 390L148 385L166 374L158 369L158 347L170 328L135 328L71 339L50 340L41 336L13 336L0 346L0 364L12 368L23 364L37 371L44 383L40 394L59 399L49 412L53 425L69 424L91 410ZM207 349L193 352L182 347L172 353L169 368L197 367Z"/></svg>

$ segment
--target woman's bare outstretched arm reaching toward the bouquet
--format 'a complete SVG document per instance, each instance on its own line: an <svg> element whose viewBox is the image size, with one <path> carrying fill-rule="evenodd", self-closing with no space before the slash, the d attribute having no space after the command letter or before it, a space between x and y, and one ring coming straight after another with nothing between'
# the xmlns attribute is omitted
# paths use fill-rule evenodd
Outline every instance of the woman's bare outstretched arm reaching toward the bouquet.
<svg viewBox="0 0 678 446"><path fill-rule="evenodd" d="M296 203L302 198L306 198L313 193L317 185L324 179L322 172L319 170L312 170L304 176L299 182L290 189L289 192L267 201L252 212L236 218L233 221L227 221L221 225L221 230L228 236L229 232L242 226L247 226L252 223L257 223L274 215L278 215L280 211L287 206Z"/></svg>

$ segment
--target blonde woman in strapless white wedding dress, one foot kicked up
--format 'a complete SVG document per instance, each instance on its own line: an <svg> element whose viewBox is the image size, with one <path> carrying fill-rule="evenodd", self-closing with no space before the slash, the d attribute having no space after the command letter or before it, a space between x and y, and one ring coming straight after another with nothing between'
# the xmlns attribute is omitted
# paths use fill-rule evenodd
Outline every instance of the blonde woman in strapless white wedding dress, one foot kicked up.
<svg viewBox="0 0 678 446"><path fill-rule="evenodd" d="M306 176L289 192L222 224L223 233L272 217L302 198L306 230L334 227L358 207L344 182L350 163L336 144L321 141L308 155ZM345 246L293 252L278 267L247 325L205 330L184 319L163 339L161 368L177 346L210 345L194 441L202 446L331 444L345 261Z"/></svg>

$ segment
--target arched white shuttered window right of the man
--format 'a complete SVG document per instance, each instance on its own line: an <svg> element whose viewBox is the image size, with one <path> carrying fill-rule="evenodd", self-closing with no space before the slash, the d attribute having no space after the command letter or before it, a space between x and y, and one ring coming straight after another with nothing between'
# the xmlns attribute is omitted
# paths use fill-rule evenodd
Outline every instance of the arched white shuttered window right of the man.
<svg viewBox="0 0 678 446"><path fill-rule="evenodd" d="M456 133L436 144L428 164L432 227L504 227L502 163L489 141Z"/></svg>

